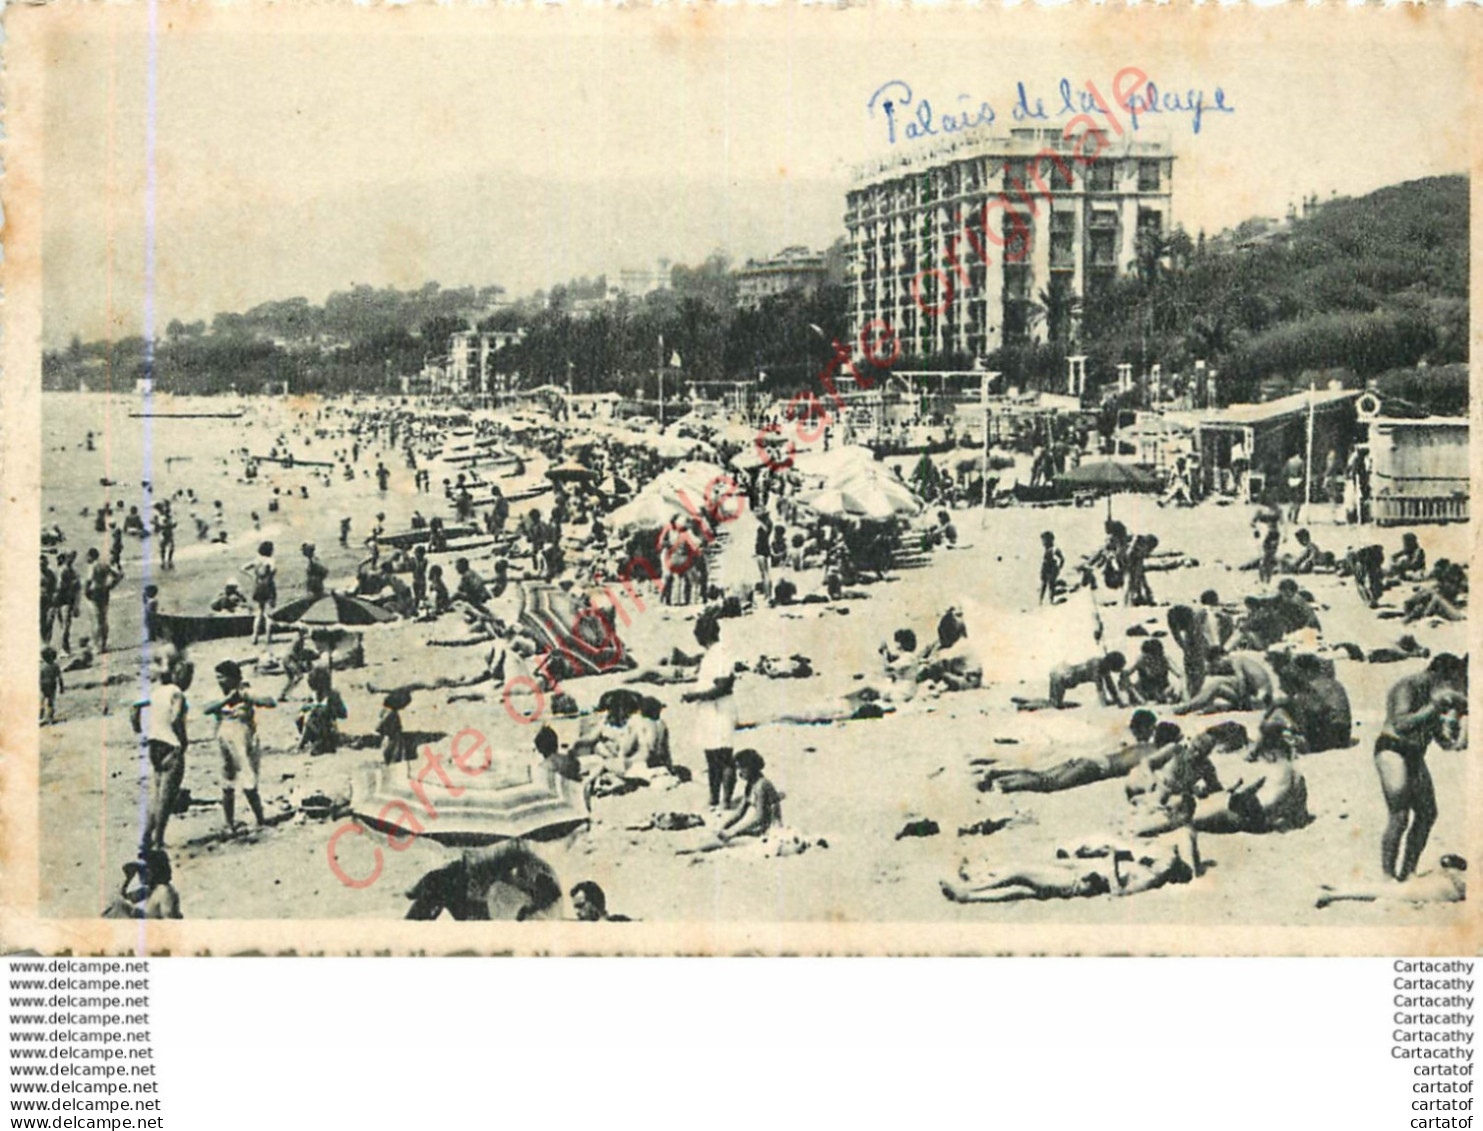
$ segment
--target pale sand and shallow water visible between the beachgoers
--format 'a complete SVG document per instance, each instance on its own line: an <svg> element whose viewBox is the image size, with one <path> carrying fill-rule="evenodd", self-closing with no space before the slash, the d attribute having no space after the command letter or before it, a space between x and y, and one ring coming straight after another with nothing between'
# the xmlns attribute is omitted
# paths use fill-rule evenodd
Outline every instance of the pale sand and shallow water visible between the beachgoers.
<svg viewBox="0 0 1483 1131"><path fill-rule="evenodd" d="M141 468L151 468L156 492L193 485L202 500L221 498L228 543L196 543L188 523L179 532L178 569L165 575L162 608L200 608L219 591L227 577L252 556L261 538L277 544L280 603L301 593L298 544L313 541L331 566L331 586L353 580L357 545L377 510L387 513L389 529L405 529L412 511L451 517L436 483L445 471L435 470L432 495L412 488L412 473L384 454L392 470L390 489L378 492L375 480L353 483L332 479L323 486L305 468L264 471L251 486L240 482L240 460L227 445L246 445L265 452L279 428L288 427L292 403L251 403L239 421L156 421L156 452L169 451L175 461L145 464L139 449L138 421L133 431L119 422L120 402L105 406L98 396L47 394L43 403L47 488L43 494L43 525L58 523L67 547L95 544L90 522L80 511L101 503L99 479L114 479L113 495L131 501L138 492ZM82 434L95 430L98 451L80 451ZM169 443L165 443L166 430ZM190 439L185 437L190 433ZM199 437L199 439L197 439ZM319 442L325 448L341 442ZM295 445L301 458L316 458L316 445ZM55 458L53 458L55 457ZM179 457L190 457L181 461ZM366 460L369 458L369 464ZM377 452L362 454L360 467L375 465ZM55 468L55 470L53 470ZM529 465L532 477L544 464ZM298 495L310 486L310 498ZM265 513L271 488L282 492L277 514ZM535 501L538 505L540 500ZM1134 532L1160 538L1164 551L1180 551L1195 563L1152 572L1154 608L1124 608L1111 603L1118 593L1099 593L1097 612L1106 626L1109 648L1136 652L1137 639L1127 630L1142 626L1152 634L1167 631L1172 602L1195 602L1206 588L1216 588L1228 602L1259 591L1256 575L1235 569L1249 560L1256 544L1250 531L1250 507L1206 503L1194 508L1160 508L1148 497L1115 497L1112 513ZM258 510L261 531L248 513ZM1314 505L1305 525L1326 550L1342 551L1351 544L1381 541L1387 550L1398 545L1400 532L1372 528L1352 531L1333 525L1332 508ZM518 507L515 514L518 516ZM341 514L353 514L351 547L337 544ZM962 921L982 923L1264 923L1284 925L1436 925L1461 916L1458 906L1409 907L1397 904L1347 903L1314 909L1320 883L1342 885L1378 876L1379 833L1385 805L1378 786L1370 749L1384 719L1388 688L1403 674L1418 671L1425 661L1367 664L1338 660L1339 680L1354 706L1355 744L1345 750L1311 754L1299 768L1308 781L1314 820L1286 833L1203 836L1201 855L1207 869L1191 883L1172 885L1136 898L1083 898L1025 901L1000 906L958 906L943 898L939 880L952 876L967 861L974 867L1053 860L1060 845L1094 838L1126 808L1121 781L1102 781L1054 795L1000 795L974 789L973 759L995 757L1004 765L1047 765L1078 754L1106 753L1123 741L1127 709L1096 706L1089 688L1078 688L1069 710L1019 712L1014 697L1046 694L1048 669L1068 660L1086 660L1096 651L1093 597L1072 593L1057 606L1041 606L1037 597L1040 532L1053 531L1068 560L1094 551L1102 540L1105 504L1094 507L1000 507L954 514L960 529L957 548L937 548L915 568L894 571L890 580L860 587L859 599L829 603L767 608L759 605L724 624L727 646L749 667L761 655L810 657L808 679L768 679L755 671L737 677L739 746L750 746L767 759L767 777L783 793L786 824L811 842L795 857L776 858L739 846L707 855L676 855L707 836L706 829L685 832L632 832L654 812L706 811L704 759L691 738L697 707L679 703L681 686L647 688L666 701L664 717L672 732L675 762L688 766L694 780L664 789L655 784L620 797L598 797L590 829L538 851L565 886L583 879L598 880L610 907L645 921ZM744 568L753 535L752 516L744 514L719 528L712 550L713 574ZM356 535L360 535L359 538ZM569 534L580 556L580 537ZM1421 531L1428 556L1465 560L1465 529L1433 526ZM740 563L740 565L739 565ZM141 760L126 706L139 691L138 587L144 572L141 547L129 540L126 580L114 594L114 640L119 648L87 671L70 673L68 691L59 704L59 722L40 732L40 832L42 915L89 918L108 901L117 886L119 867L131 860L141 823ZM488 575L489 560L476 559ZM160 575L153 574L156 581ZM817 580L799 577L801 588ZM1378 614L1394 608L1406 590L1396 590L1379 611L1367 609L1352 583L1324 575L1307 577L1329 643L1352 642L1364 651L1394 645L1404 631L1433 652L1464 652L1465 624L1421 623L1401 627L1398 620ZM970 637L985 661L985 686L912 701L881 719L801 725L780 722L878 682L876 648L891 630L912 626L928 633L948 606L964 609ZM650 666L673 648L696 651L693 626L698 606L666 606L657 599L642 611L632 609L621 628L630 654ZM86 614L79 624L86 623ZM449 670L467 661L436 649L426 640L436 626L397 623L366 631L366 667L337 673L350 717L347 735L369 734L377 720L380 697L368 683L393 677ZM282 652L283 646L277 646ZM254 649L243 639L200 643L193 648L197 680L205 682L191 701L209 695L209 673L222 658L245 661ZM590 712L599 695L621 686L630 673L572 680L567 691L578 709ZM251 676L249 676L251 679ZM276 694L282 677L254 682L260 694ZM303 686L298 689L303 695ZM279 710L260 712L262 744L262 800L270 827L228 838L221 808L212 803L221 793L219 757L211 738L209 720L191 717L185 789L191 808L171 824L169 845L175 885L187 918L280 919L356 918L393 919L406 912L403 892L421 875L457 857L455 849L417 839L406 851L384 851L384 869L374 883L354 889L332 873L326 845L337 827L298 811L300 802L325 793L341 797L359 765L375 759L374 749L340 749L310 757L294 750L294 716L298 701ZM1161 717L1167 709L1155 709ZM1186 719L1188 731L1203 723L1235 717L1255 731L1259 713L1219 714ZM469 691L417 692L405 713L409 729L446 737L476 728L501 752L523 754L534 740L534 726L516 723L503 709L497 689L482 685ZM555 719L564 743L578 731L580 719ZM1440 854L1464 848L1465 752L1433 750L1428 763L1437 784L1440 818L1422 870L1434 869ZM145 763L147 774L147 763ZM713 818L710 818L713 821ZM905 826L936 821L934 836L903 836ZM1003 821L992 835L960 835L960 829L991 820ZM823 842L823 843L819 843ZM375 840L347 838L341 861L347 872L365 875Z"/></svg>

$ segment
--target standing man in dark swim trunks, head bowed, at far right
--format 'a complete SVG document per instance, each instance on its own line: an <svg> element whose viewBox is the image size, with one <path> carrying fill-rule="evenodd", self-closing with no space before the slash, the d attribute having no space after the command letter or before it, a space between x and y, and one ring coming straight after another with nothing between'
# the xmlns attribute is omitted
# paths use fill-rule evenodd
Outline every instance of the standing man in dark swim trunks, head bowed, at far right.
<svg viewBox="0 0 1483 1131"><path fill-rule="evenodd" d="M1403 880L1416 870L1437 821L1427 747L1436 741L1453 749L1467 710L1468 666L1450 652L1433 657L1425 671L1404 676L1385 700L1385 728L1375 740L1375 769L1390 809L1381 836L1381 870L1388 878ZM1401 838L1406 839L1404 855Z"/></svg>

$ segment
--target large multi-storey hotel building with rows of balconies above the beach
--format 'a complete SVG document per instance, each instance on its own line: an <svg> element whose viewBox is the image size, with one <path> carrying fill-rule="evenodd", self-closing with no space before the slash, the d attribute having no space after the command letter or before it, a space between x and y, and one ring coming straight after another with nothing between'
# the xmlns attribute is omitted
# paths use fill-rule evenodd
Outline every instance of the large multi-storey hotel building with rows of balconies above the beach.
<svg viewBox="0 0 1483 1131"><path fill-rule="evenodd" d="M1031 317L1043 293L1081 299L1130 268L1139 230L1169 233L1173 165L1167 142L1145 136L1109 135L1083 165L1062 130L1014 129L962 135L862 169L845 197L854 335L879 319L908 357L979 357L1031 332L1054 334ZM1001 205L985 212L1001 193L1016 215ZM983 239L985 215L1007 246ZM1072 302L1051 307L1069 311Z"/></svg>

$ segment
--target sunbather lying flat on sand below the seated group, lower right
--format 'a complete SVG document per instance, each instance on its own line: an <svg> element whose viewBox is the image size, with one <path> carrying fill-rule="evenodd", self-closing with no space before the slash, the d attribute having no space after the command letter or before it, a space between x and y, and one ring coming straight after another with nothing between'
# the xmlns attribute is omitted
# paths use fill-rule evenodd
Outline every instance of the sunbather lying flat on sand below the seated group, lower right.
<svg viewBox="0 0 1483 1131"><path fill-rule="evenodd" d="M995 869L982 876L971 876L962 867L960 883L940 880L942 894L954 903L1137 895L1167 883L1189 883L1201 872L1198 842L1189 830L1152 845L1084 845L1057 855L1068 858L1054 864Z"/></svg>

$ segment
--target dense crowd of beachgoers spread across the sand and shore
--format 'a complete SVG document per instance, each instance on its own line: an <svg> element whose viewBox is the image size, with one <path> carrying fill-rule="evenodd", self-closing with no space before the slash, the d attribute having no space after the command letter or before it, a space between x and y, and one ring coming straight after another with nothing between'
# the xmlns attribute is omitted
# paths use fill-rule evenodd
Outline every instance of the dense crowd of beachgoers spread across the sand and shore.
<svg viewBox="0 0 1483 1131"><path fill-rule="evenodd" d="M475 457L449 460L454 431ZM982 495L951 473L949 454L948 470L922 457L909 473L909 461L882 471L893 489L921 501L911 517L830 511L816 504L820 483L807 470L747 460L747 445L701 434L679 446L688 445L693 460L725 468L728 485L744 500L740 535L679 505L667 522L621 519L621 508L675 467L673 455L641 442L584 433L571 421L433 421L403 408L334 405L277 434L262 455L242 449L227 457L239 471L234 489L262 500L245 516L228 514L218 500L208 503L196 483L168 497L145 495L138 505L104 501L87 514L98 545L74 548L59 526L49 531L40 563L44 723L65 720L74 673L120 651L110 624L114 594L123 587L135 599L132 583L148 581L136 599L150 692L131 703L131 722L147 752L150 787L138 854L108 913L181 913L166 829L184 811L188 729L197 717L211 723L221 833L228 838L248 827L242 818L257 829L280 820L264 799L264 713L292 716L295 754L366 749L383 766L396 768L418 757L409 723L414 704L420 697L437 703L446 697L482 698L497 709L515 704L521 712L535 710L537 698L549 700L550 717L529 732L529 762L553 790L574 789L589 814L639 789L691 796L675 790L694 783L704 797L696 808L704 814L655 814L650 826L698 830L676 842L678 855L701 860L746 845L789 855L823 843L785 826L785 793L768 778L773 753L761 737L746 740L752 744L740 738L737 706L739 685L807 679L811 661L742 655L730 624L765 609L848 611L850 602L869 594L868 587L891 580L902 562L968 548L960 532L962 507ZM1077 451L1059 439L1043 446L1034 457L1032 486L1074 470ZM328 458L311 458L316 452ZM528 461L544 468L534 483L525 474ZM1000 468L991 462L986 470ZM1191 468L1179 470L1164 501L1192 503L1191 476ZM357 503L350 514L320 513L346 482L357 485L357 500L387 505ZM411 514L402 505L400 517L389 519L399 491L399 503L412 500ZM264 516L273 525L273 516L291 510L313 511L326 535L338 525L338 541L295 538L289 545L298 545L297 554L280 566L282 538L264 531ZM1054 858L965 869L943 883L954 901L1126 895L1188 883L1201 875L1198 836L1284 832L1311 820L1302 759L1354 741L1350 695L1335 667L1336 660L1352 658L1354 646L1324 636L1318 602L1304 588L1314 578L1342 577L1345 586L1352 580L1367 608L1394 611L1406 624L1467 617L1467 566L1428 560L1415 532L1390 556L1379 544L1335 554L1318 547L1317 525L1299 526L1292 508L1258 507L1250 529L1259 551L1231 575L1247 591L1228 600L1209 588L1198 600L1160 605L1151 574L1182 568L1191 560L1186 554L1161 550L1157 535L1112 517L1097 545L1075 545L1086 522L1080 510L1063 513L1078 514L1077 526L1043 531L1038 547L1031 534L1026 541L1035 548L1022 551L1038 562L1034 603L1043 612L1037 615L1054 617L1054 609L1087 602L1096 627L1080 655L1050 667L1043 698L1016 697L1016 704L1075 710L1094 701L1130 710L1129 740L1069 757L1062 753L1046 765L980 757L976 784L992 797L1120 780L1123 800L1109 814L1105 836L1068 845ZM403 519L405 529L397 529ZM194 529L209 560L234 557L231 577L209 599L184 596L187 571L176 565L181 525ZM240 528L237 538L228 525ZM1054 526L1054 517L1046 525ZM691 547L681 550L684 568L675 568L675 534ZM128 553L131 540L136 553ZM644 586L638 602L614 600L614 587L623 583L617 588L623 596L635 581ZM374 643L344 626L320 630L298 620L329 599L360 602L374 608L368 615L377 620L411 626L429 648L454 651L427 652L426 660L365 677L359 670L368 651L375 658ZM673 609L676 620L693 618L693 651L676 648L657 661L641 657L650 661L642 664L627 654L629 618L648 600ZM562 624L555 627L552 608L561 611ZM994 691L986 660L1003 640L961 602L942 600L927 612L922 623L897 621L879 643L878 671L862 674L860 688L839 703L799 704L782 722L876 719L940 695L962 695L973 704L967 710L977 710L982 700L970 694ZM86 633L74 626L80 614ZM187 692L191 657L209 637L197 645L181 639L178 627L168 630L171 618L178 624L184 617L245 623L242 636L230 637L240 648L233 645L231 658L212 666L215 691L203 703ZM1129 621L1126 639L1114 639L1105 624L1112 620ZM1388 651L1372 649L1366 658L1427 661L1396 682L1373 747L1388 814L1378 830L1381 864L1387 876L1407 880L1421 867L1437 818L1427 753L1467 741L1467 664L1450 652L1427 654L1413 636ZM451 663L455 655L476 663L458 667ZM621 686L583 692L581 677L612 673L623 674ZM676 691L667 694L664 686ZM362 688L374 697L369 712L359 698ZM666 713L675 710L685 712L687 725L672 732ZM1192 725L1216 714L1225 720ZM562 741L549 723L572 717L580 732ZM409 892L408 915L544 918L558 913L564 898L580 919L623 918L608 912L607 894L593 880L568 888L537 854L495 851L463 855L424 876ZM1350 897L1330 901L1342 898Z"/></svg>

